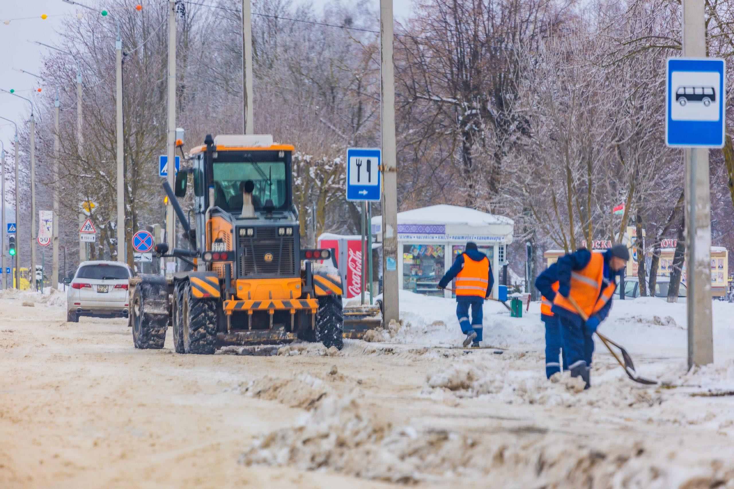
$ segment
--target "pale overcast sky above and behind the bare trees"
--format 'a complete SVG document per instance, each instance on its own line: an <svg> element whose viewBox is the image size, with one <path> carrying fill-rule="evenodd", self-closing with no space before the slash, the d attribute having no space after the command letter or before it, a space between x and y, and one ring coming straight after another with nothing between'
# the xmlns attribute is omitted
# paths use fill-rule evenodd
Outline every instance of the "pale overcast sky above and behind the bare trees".
<svg viewBox="0 0 734 489"><path fill-rule="evenodd" d="M313 1L317 5L325 3L325 0ZM411 0L393 1L396 18L405 18L410 14ZM76 8L62 0L0 0L0 88L15 89L19 95L32 98L33 89L39 87L36 78L16 70L38 73L41 54L46 48L28 41L56 45L62 15L76 15ZM48 15L46 20L41 19L43 14ZM10 23L6 23L8 20ZM110 51L112 55L113 51ZM0 92L1 117L15 120L20 125L23 117L29 114L28 108L29 104L25 100ZM8 143L12 141L13 132L12 124L0 120L0 139L6 148L10 147Z"/></svg>

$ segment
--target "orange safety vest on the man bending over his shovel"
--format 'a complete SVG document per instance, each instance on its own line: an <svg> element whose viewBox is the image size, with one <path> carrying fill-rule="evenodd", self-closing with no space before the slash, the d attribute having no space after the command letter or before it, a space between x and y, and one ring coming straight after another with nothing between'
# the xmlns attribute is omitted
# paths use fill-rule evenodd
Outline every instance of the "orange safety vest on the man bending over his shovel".
<svg viewBox="0 0 734 489"><path fill-rule="evenodd" d="M606 286L604 282L604 255L592 251L589 263L583 269L571 272L569 297L576 301L587 316L594 315L611 299L614 290L617 290L617 282L614 280L608 282ZM556 294L553 304L578 314L573 304L561 294Z"/></svg>

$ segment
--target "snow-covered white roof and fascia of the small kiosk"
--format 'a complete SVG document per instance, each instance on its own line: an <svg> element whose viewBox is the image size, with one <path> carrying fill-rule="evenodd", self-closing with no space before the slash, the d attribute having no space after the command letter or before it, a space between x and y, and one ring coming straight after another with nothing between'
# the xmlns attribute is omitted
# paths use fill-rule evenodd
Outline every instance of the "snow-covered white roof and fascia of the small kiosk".
<svg viewBox="0 0 734 489"><path fill-rule="evenodd" d="M431 205L398 213L398 239L478 240L512 243L515 221L505 216L459 207ZM372 232L382 240L382 216L372 218Z"/></svg>

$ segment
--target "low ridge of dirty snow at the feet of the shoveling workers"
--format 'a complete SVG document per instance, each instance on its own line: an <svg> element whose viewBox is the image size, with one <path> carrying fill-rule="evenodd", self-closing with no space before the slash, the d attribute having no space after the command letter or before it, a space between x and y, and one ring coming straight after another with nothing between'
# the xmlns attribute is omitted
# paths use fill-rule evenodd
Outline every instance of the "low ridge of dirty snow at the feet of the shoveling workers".
<svg viewBox="0 0 734 489"><path fill-rule="evenodd" d="M642 408L663 402L654 389L636 386L625 378L601 379L597 381L592 375L592 389L584 391L581 378L571 378L567 372L549 381L542 372L472 359L429 372L426 383L431 389L446 389L457 397L490 395L506 404Z"/></svg>

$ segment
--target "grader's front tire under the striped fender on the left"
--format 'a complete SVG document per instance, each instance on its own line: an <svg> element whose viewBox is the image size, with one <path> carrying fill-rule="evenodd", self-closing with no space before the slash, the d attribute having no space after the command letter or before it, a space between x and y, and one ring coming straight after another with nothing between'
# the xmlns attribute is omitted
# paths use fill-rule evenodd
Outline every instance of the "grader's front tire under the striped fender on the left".
<svg viewBox="0 0 734 489"><path fill-rule="evenodd" d="M211 298L195 298L186 282L181 307L181 332L185 353L213 355L217 348L217 304Z"/></svg>

